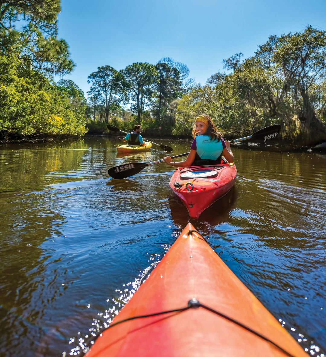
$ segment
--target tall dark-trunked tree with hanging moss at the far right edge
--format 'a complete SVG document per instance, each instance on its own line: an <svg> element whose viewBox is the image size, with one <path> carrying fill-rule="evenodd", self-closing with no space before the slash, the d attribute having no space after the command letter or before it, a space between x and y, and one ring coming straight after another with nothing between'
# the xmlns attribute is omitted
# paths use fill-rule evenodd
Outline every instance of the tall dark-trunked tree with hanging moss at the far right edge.
<svg viewBox="0 0 326 357"><path fill-rule="evenodd" d="M325 137L326 128L316 116L316 85L326 74L326 32L308 25L303 32L270 36L256 56L265 68L274 67L282 81L275 102L277 106L291 104L285 116L287 123L295 113L308 141Z"/></svg>

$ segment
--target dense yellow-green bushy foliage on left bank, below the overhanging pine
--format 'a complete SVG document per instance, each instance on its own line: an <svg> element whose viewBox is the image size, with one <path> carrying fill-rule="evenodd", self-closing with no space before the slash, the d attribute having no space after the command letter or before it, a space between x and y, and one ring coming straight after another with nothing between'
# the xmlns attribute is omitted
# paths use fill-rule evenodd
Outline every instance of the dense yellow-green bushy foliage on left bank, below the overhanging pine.
<svg viewBox="0 0 326 357"><path fill-rule="evenodd" d="M0 132L9 135L84 135L85 105L70 103L49 79L19 56L0 56Z"/></svg>

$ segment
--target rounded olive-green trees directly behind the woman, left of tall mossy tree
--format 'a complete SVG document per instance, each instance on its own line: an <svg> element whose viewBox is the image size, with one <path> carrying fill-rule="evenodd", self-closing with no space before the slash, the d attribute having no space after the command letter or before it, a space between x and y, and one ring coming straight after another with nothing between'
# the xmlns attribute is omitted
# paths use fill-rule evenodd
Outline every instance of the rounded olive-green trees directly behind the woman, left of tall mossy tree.
<svg viewBox="0 0 326 357"><path fill-rule="evenodd" d="M269 100L274 95L272 72L261 69L255 58L232 66L233 73L212 75L205 86L197 85L178 105L175 133L182 126L190 134L194 118L205 112L226 135L248 135L278 118L270 115Z"/></svg>

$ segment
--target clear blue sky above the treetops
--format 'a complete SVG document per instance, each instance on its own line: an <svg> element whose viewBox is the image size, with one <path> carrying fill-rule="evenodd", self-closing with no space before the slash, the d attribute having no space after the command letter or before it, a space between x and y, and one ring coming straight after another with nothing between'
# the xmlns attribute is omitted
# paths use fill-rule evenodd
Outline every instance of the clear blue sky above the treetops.
<svg viewBox="0 0 326 357"><path fill-rule="evenodd" d="M250 57L270 35L302 31L307 24L326 30L325 0L61 0L59 38L68 42L77 65L63 78L87 97L87 76L99 66L120 70L171 57L204 84L224 71L223 59L237 52Z"/></svg>

